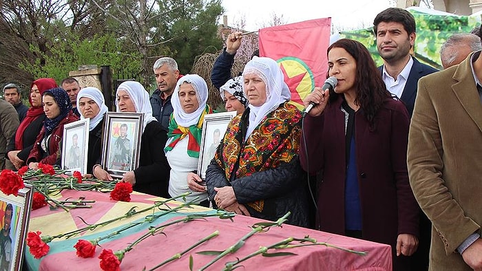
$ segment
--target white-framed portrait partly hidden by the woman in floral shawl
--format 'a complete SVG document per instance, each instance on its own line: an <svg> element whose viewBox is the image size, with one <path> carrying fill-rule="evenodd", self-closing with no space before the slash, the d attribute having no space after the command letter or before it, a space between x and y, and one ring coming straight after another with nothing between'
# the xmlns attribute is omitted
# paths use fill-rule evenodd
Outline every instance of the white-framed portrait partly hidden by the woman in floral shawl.
<svg viewBox="0 0 482 271"><path fill-rule="evenodd" d="M205 115L202 124L201 146L199 150L198 175L206 179L206 169L216 154L219 143L224 138L224 133L229 122L236 116L236 111L212 113Z"/></svg>

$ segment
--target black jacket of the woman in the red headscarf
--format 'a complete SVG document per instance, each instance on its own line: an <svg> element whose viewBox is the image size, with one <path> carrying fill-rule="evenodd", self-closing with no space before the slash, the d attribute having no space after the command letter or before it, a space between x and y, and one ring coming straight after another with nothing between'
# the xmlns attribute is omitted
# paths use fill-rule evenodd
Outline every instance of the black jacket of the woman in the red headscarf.
<svg viewBox="0 0 482 271"><path fill-rule="evenodd" d="M39 135L40 130L43 127L43 120L45 120L45 114L41 114L38 116L34 121L30 122L27 128L25 128L25 131L23 132L23 148L21 151L17 154L17 156L23 160L27 161L28 155L30 155L30 151L32 151L32 148L34 147L34 143L36 140L37 135ZM7 146L7 153L9 151L19 151L15 149L15 136L17 135L17 132L12 136L12 140L10 140L10 143Z"/></svg>

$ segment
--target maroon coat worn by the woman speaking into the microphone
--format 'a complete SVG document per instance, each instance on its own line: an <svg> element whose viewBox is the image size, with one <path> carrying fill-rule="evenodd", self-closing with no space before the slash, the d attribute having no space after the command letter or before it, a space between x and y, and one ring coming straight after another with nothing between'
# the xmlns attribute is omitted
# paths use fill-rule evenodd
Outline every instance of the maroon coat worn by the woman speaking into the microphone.
<svg viewBox="0 0 482 271"><path fill-rule="evenodd" d="M345 235L345 115L340 96L321 116L306 116L300 161L305 171L321 173L317 228ZM419 235L419 207L408 182L406 153L410 117L404 104L387 99L370 129L362 109L355 113L355 153L362 205L363 239L395 248L397 235ZM303 137L302 137L303 140ZM308 163L309 162L309 163Z"/></svg>

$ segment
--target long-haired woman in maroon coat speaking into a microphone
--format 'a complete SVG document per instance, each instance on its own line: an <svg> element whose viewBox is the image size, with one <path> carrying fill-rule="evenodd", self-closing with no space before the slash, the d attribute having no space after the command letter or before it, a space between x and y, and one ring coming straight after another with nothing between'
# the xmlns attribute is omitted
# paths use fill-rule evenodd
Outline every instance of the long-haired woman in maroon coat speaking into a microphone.
<svg viewBox="0 0 482 271"><path fill-rule="evenodd" d="M394 270L410 270L419 209L408 182L406 107L386 90L362 43L328 47L328 72L338 80L334 93L317 87L304 99L315 106L300 150L303 168L322 175L317 228L389 244Z"/></svg>

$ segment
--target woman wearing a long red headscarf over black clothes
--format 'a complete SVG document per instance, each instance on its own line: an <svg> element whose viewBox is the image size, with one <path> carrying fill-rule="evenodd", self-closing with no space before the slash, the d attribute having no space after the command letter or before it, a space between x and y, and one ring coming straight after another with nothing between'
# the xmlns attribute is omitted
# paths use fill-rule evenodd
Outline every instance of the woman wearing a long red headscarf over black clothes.
<svg viewBox="0 0 482 271"><path fill-rule="evenodd" d="M30 155L30 151L34 147L36 137L43 127L43 121L45 120L45 113L42 107L43 92L54 87L57 87L57 84L52 78L34 80L30 87L30 95L28 96L30 108L7 146L8 159L14 164L16 169L25 166L25 161L27 161L28 155Z"/></svg>

